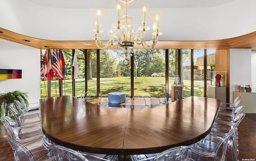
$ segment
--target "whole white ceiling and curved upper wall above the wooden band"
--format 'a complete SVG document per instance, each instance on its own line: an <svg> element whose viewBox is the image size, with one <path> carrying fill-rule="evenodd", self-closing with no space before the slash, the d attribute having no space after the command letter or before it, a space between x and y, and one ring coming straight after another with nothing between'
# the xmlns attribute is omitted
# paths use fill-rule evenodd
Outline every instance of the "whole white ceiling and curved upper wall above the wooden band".
<svg viewBox="0 0 256 161"><path fill-rule="evenodd" d="M129 10L132 27L141 25L144 5L148 41L156 15L159 41L218 40L256 31L256 0L137 0ZM100 9L100 37L107 41L116 6L116 0L1 0L0 15L7 16L0 16L0 27L39 39L92 41Z"/></svg>

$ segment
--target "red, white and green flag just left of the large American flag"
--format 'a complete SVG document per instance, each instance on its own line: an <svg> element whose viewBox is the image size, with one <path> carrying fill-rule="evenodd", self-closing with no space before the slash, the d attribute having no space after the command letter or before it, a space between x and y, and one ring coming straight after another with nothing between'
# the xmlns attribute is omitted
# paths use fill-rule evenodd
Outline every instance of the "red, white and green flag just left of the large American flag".
<svg viewBox="0 0 256 161"><path fill-rule="evenodd" d="M52 71L52 53L49 49L46 51L45 65L44 65L44 76L48 79L48 81L53 79L53 71Z"/></svg>

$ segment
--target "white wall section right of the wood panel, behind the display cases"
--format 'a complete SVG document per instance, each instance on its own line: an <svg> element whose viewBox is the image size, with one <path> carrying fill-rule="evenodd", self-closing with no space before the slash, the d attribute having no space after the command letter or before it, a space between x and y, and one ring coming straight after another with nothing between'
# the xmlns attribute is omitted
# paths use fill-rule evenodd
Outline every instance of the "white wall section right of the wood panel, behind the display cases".
<svg viewBox="0 0 256 161"><path fill-rule="evenodd" d="M252 84L251 59L251 49L230 49L230 102L233 102L234 84Z"/></svg>

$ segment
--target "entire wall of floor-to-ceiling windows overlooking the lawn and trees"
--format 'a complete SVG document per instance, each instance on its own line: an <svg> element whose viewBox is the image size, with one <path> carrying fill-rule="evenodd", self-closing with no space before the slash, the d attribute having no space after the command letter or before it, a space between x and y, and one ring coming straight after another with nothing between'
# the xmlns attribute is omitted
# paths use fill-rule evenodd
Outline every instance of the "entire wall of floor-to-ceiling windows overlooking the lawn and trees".
<svg viewBox="0 0 256 161"><path fill-rule="evenodd" d="M74 53L78 61L79 75L73 82ZM132 57L125 57L121 53L122 51L116 53L109 49L64 49L67 75L62 80L62 95L72 96L75 89L76 96L86 91L91 93L91 96L97 92L108 96L109 92L118 91L125 92L126 96L150 96L151 93L162 96L168 87L167 92L170 92L174 76L179 75L183 96L206 96L207 86L211 84L208 72L214 71L215 67L214 49L135 49ZM125 59L128 59L129 64L124 63ZM41 98L46 97L47 92L47 80L46 88L43 80L42 78ZM59 83L54 75L51 81L51 96L60 95Z"/></svg>

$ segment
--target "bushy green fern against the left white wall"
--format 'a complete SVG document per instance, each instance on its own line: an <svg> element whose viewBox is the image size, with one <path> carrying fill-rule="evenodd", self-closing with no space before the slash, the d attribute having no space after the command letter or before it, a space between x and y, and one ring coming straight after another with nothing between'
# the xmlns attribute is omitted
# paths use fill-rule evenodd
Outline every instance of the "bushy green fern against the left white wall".
<svg viewBox="0 0 256 161"><path fill-rule="evenodd" d="M2 116L11 116L11 112L8 109L8 106L16 106L14 104L14 100L19 100L18 96L23 98L26 104L28 104L28 92L14 90L13 92L6 92L0 94L0 118Z"/></svg>

